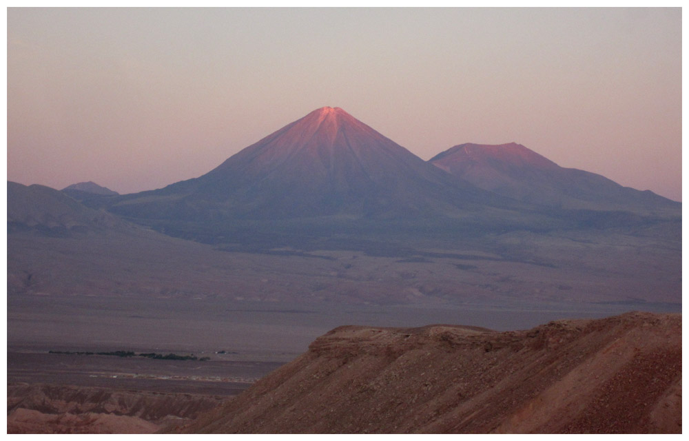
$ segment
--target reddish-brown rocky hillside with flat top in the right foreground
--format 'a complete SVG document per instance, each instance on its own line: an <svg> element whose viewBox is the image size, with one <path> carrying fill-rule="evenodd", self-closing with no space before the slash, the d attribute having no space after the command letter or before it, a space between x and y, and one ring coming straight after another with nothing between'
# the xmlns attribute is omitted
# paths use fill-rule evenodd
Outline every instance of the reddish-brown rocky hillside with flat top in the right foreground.
<svg viewBox="0 0 689 441"><path fill-rule="evenodd" d="M681 433L681 315L345 326L186 433Z"/></svg>

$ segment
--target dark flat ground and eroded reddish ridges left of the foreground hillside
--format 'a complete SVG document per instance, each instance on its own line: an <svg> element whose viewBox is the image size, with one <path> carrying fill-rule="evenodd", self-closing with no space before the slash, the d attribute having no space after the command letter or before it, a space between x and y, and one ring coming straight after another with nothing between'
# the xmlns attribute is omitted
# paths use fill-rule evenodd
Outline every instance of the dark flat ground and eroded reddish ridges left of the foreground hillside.
<svg viewBox="0 0 689 441"><path fill-rule="evenodd" d="M8 433L153 433L213 409L282 365L8 353Z"/></svg>

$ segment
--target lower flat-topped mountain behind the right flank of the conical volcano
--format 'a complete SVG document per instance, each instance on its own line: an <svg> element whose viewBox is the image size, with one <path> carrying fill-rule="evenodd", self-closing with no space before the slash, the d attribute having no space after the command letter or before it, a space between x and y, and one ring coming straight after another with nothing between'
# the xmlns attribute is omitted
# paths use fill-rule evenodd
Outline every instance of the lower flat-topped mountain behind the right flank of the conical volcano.
<svg viewBox="0 0 689 441"><path fill-rule="evenodd" d="M677 213L680 203L622 187L584 170L560 167L517 143L455 145L429 161L473 185L527 203L567 209Z"/></svg>

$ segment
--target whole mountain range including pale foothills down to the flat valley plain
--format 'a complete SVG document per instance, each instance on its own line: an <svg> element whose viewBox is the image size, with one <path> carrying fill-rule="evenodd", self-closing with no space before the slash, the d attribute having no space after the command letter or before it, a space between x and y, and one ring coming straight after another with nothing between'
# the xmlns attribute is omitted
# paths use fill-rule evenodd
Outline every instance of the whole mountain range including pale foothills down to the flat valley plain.
<svg viewBox="0 0 689 441"><path fill-rule="evenodd" d="M681 302L680 203L517 144L423 161L338 108L163 189L70 187L8 182L10 291Z"/></svg>

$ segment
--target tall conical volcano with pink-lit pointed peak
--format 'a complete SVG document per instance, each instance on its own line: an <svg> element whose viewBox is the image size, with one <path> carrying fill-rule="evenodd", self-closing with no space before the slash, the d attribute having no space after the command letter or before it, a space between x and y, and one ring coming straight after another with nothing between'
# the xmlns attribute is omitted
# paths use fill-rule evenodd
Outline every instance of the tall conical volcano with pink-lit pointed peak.
<svg viewBox="0 0 689 441"><path fill-rule="evenodd" d="M484 192L424 162L338 107L322 107L211 172L110 207L133 218L461 216Z"/></svg>

